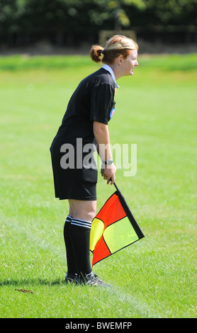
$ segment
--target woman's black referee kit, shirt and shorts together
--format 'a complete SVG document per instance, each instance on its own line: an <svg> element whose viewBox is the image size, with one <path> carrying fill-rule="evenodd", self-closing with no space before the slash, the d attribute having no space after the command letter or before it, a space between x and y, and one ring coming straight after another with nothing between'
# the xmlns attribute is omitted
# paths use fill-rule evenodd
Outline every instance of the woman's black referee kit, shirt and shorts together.
<svg viewBox="0 0 197 333"><path fill-rule="evenodd" d="M95 143L93 122L96 120L108 124L115 111L114 91L115 81L111 73L101 68L83 79L70 98L62 125L50 147L56 198L96 200L98 171L96 164L94 165L93 150L89 169L84 165L84 157L88 153L83 151L81 156L83 165L77 168L76 160L80 152L74 150L74 169L72 169L72 167L62 167L64 152L61 151L61 147L67 143L75 146L77 138L82 139L83 146L86 143Z"/></svg>

